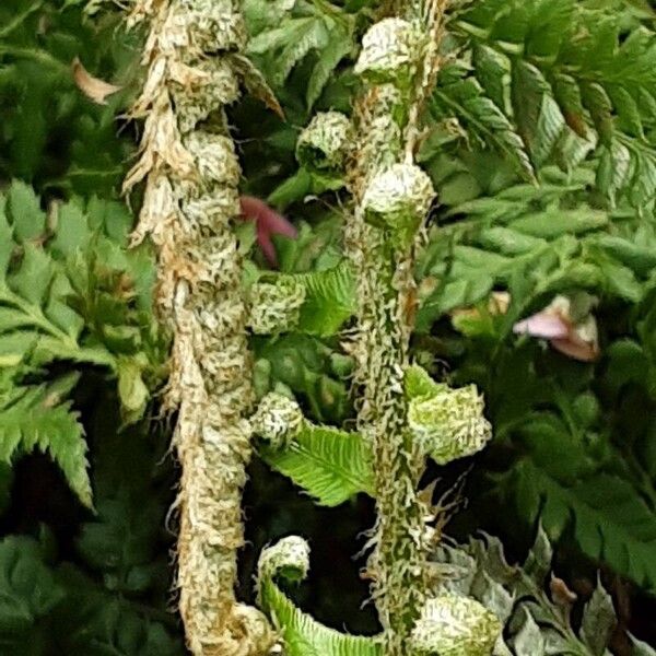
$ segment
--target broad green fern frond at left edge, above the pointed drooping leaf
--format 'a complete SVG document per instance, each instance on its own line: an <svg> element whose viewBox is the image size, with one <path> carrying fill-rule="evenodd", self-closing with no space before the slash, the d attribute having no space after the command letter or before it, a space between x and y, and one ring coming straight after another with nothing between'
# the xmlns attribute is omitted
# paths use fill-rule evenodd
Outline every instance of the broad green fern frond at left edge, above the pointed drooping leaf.
<svg viewBox="0 0 656 656"><path fill-rule="evenodd" d="M126 253L130 227L120 203L73 200L54 207L47 222L24 183L0 196L3 363L104 366L122 379L121 400L136 419L145 408L142 376L163 360L164 340L150 315L153 260L144 248Z"/></svg>

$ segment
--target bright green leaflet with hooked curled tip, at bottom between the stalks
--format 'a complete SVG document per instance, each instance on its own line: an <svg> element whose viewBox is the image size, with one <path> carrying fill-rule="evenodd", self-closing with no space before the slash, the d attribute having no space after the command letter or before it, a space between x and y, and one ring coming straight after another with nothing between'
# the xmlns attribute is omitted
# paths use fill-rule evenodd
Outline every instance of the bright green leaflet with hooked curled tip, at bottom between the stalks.
<svg viewBox="0 0 656 656"><path fill-rule="evenodd" d="M278 587L276 578L304 578L309 550L301 538L283 538L260 555L258 604L280 628L288 656L382 656L374 637L354 636L329 629L303 612Z"/></svg>

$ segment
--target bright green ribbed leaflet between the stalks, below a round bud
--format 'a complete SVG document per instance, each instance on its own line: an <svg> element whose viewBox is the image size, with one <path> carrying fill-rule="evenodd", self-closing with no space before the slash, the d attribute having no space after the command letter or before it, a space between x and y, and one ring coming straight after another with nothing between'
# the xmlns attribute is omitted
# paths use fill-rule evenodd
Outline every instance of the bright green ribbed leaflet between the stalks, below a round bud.
<svg viewBox="0 0 656 656"><path fill-rule="evenodd" d="M306 422L289 445L260 453L319 505L337 506L359 492L374 496L372 454L356 433Z"/></svg>

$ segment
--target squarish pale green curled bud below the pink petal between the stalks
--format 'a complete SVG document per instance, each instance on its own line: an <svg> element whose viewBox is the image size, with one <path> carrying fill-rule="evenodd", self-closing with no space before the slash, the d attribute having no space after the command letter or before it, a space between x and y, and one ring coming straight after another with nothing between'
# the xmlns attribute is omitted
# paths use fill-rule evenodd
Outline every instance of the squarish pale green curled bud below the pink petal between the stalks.
<svg viewBox="0 0 656 656"><path fill-rule="evenodd" d="M256 335L293 330L305 302L305 286L293 278L276 282L256 282L250 288L248 325Z"/></svg>

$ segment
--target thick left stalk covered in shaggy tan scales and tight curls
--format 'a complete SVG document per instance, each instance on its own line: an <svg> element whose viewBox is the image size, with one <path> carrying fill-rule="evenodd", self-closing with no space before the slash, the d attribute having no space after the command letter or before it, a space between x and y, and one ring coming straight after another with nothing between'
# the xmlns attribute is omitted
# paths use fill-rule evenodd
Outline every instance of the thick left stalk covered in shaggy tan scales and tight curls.
<svg viewBox="0 0 656 656"><path fill-rule="evenodd" d="M178 410L179 610L195 655L266 654L263 616L234 595L254 395L232 231L241 171L223 106L238 95L232 58L244 25L232 0L137 0L128 21L148 30L132 110L145 118L141 156L125 189L145 180L134 239L150 235L157 247L157 304L174 337L166 407Z"/></svg>

